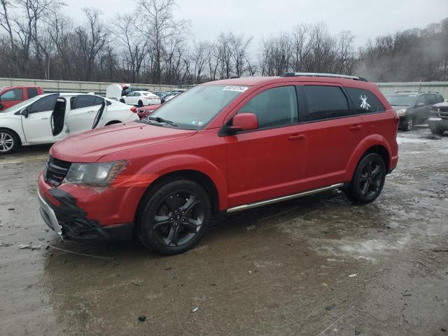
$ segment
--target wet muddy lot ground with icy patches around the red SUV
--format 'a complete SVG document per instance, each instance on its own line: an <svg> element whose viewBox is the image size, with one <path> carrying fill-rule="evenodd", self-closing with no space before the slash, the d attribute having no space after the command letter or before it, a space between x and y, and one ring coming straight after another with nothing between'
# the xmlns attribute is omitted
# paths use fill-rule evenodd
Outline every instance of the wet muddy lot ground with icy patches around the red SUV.
<svg viewBox="0 0 448 336"><path fill-rule="evenodd" d="M373 204L333 191L247 211L169 258L59 241L36 198L48 147L3 156L0 334L448 335L448 137L398 138Z"/></svg>

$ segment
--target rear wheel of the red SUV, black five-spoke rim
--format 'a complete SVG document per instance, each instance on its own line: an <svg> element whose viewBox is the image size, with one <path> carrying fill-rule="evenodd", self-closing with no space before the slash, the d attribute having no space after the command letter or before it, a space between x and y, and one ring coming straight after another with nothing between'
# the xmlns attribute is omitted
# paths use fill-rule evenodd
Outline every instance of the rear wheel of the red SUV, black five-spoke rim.
<svg viewBox="0 0 448 336"><path fill-rule="evenodd" d="M358 163L353 180L345 193L349 200L356 203L373 202L383 190L384 179L386 179L386 167L381 155L367 154Z"/></svg>

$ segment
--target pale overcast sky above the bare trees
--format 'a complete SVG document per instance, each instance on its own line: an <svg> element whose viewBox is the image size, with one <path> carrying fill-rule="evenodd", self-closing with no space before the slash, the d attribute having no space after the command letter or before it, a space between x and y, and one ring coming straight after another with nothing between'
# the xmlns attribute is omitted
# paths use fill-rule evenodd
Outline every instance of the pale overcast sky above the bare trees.
<svg viewBox="0 0 448 336"><path fill-rule="evenodd" d="M132 0L66 0L66 13L82 20L83 7L97 7L113 18L135 8ZM214 39L221 31L262 38L289 31L299 22L324 21L332 34L350 30L360 46L368 38L397 30L426 27L448 17L448 0L177 0L177 18L191 21L198 39ZM137 17L136 20L139 20Z"/></svg>

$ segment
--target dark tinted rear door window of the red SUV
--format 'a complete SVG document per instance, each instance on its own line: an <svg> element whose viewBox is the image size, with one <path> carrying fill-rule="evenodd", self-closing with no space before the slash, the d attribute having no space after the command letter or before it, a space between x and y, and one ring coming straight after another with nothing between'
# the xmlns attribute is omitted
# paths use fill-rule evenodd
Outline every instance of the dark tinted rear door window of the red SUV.
<svg viewBox="0 0 448 336"><path fill-rule="evenodd" d="M302 87L306 99L307 111L300 111L300 123L350 116L344 92L339 86L304 85Z"/></svg>

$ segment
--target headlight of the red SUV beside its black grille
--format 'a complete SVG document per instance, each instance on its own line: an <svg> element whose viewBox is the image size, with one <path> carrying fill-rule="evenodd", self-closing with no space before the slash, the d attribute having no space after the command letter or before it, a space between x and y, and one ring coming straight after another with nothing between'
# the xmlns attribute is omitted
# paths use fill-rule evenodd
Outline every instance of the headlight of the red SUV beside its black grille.
<svg viewBox="0 0 448 336"><path fill-rule="evenodd" d="M125 161L103 163L72 163L66 181L93 185L106 185L125 167Z"/></svg>

